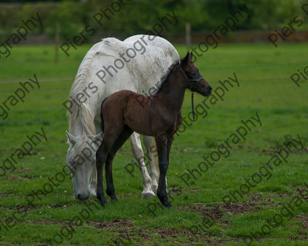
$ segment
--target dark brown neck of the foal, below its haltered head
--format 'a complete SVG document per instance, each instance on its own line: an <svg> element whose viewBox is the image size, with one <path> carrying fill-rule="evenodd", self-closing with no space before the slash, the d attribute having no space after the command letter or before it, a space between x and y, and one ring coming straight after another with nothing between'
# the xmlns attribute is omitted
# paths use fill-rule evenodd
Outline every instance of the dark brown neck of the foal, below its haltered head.
<svg viewBox="0 0 308 246"><path fill-rule="evenodd" d="M180 110L183 105L185 89L187 88L186 79L180 71L179 65L171 70L167 79L163 82L158 97L163 99L170 107Z"/></svg>

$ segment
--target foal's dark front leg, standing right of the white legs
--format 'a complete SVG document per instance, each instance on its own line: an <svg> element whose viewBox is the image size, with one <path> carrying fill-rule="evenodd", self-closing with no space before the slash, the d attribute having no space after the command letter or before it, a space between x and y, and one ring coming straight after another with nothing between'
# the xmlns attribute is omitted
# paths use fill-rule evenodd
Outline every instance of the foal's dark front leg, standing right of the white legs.
<svg viewBox="0 0 308 246"><path fill-rule="evenodd" d="M157 144L157 152L159 159L159 182L158 182L158 190L157 196L161 203L172 209L172 206L168 200L167 188L166 188L166 174L168 170L168 136L167 134L160 134L155 136L156 144Z"/></svg>

